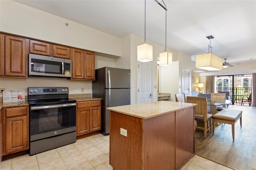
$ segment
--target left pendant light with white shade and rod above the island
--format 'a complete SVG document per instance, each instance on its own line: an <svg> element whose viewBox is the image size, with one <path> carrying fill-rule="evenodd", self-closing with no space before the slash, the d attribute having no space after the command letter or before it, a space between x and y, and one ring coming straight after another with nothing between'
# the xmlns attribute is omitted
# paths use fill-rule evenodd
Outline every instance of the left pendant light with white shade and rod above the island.
<svg viewBox="0 0 256 170"><path fill-rule="evenodd" d="M153 60L153 47L146 43L146 0L145 0L145 35L144 44L137 46L137 60L148 62Z"/></svg>

